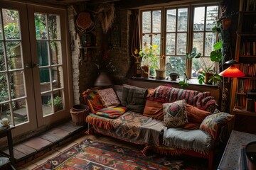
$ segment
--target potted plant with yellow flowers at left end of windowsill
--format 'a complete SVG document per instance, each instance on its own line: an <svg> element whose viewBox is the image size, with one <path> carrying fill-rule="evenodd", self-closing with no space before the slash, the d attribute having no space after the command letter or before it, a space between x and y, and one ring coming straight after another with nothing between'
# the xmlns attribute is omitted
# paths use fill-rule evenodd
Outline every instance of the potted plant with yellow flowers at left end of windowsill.
<svg viewBox="0 0 256 170"><path fill-rule="evenodd" d="M146 42L144 42L142 49L139 51L139 56L142 57L142 77L149 77L149 68L158 68L159 58L156 57L158 48L158 45L147 45Z"/></svg>

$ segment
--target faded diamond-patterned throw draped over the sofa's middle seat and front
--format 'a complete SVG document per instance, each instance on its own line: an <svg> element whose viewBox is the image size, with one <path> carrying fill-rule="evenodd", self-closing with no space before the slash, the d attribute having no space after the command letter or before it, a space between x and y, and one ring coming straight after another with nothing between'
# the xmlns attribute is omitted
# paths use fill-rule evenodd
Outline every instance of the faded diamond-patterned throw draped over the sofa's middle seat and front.
<svg viewBox="0 0 256 170"><path fill-rule="evenodd" d="M163 122L128 111L112 122L112 129L97 126L94 129L105 135L144 145L159 145L159 135L164 129Z"/></svg>

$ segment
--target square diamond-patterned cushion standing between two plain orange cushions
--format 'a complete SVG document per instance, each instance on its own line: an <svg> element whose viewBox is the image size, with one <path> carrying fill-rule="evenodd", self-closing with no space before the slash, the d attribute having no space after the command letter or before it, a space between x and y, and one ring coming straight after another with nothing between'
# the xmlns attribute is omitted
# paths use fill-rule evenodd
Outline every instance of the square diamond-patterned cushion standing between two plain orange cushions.
<svg viewBox="0 0 256 170"><path fill-rule="evenodd" d="M173 103L164 103L164 125L166 127L178 127L188 123L186 115L186 101L175 101Z"/></svg>

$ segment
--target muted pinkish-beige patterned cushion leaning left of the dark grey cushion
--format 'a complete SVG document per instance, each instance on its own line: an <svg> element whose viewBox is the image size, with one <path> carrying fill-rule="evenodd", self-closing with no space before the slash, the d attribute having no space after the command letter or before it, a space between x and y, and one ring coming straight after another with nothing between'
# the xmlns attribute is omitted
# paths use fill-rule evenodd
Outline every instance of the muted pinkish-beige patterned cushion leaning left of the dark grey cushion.
<svg viewBox="0 0 256 170"><path fill-rule="evenodd" d="M97 92L105 108L114 108L120 105L117 94L112 88L97 90Z"/></svg>

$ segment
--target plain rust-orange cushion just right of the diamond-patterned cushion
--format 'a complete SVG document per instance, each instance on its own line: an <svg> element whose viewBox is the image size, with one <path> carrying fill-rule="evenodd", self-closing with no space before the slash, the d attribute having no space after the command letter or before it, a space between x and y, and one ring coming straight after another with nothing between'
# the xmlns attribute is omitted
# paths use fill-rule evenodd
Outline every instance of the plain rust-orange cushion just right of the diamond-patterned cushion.
<svg viewBox="0 0 256 170"><path fill-rule="evenodd" d="M206 116L212 114L208 111L203 111L196 106L192 106L189 104L186 105L186 113L188 115L189 123L202 123Z"/></svg>

